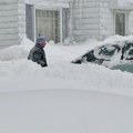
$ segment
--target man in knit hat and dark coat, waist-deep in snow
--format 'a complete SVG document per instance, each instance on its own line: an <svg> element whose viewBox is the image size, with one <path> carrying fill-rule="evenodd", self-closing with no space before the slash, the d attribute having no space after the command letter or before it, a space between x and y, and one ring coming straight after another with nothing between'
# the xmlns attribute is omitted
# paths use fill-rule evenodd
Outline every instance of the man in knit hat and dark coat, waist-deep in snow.
<svg viewBox="0 0 133 133"><path fill-rule="evenodd" d="M43 50L45 44L47 44L45 38L43 35L38 35L35 45L30 50L28 60L32 60L33 62L37 62L41 66L48 66L45 52Z"/></svg>

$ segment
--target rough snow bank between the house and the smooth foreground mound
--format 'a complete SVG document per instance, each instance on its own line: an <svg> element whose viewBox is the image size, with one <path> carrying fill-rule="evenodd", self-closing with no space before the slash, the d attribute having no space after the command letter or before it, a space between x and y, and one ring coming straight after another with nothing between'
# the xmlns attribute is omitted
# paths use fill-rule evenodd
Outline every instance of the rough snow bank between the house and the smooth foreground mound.
<svg viewBox="0 0 133 133"><path fill-rule="evenodd" d="M113 39L110 38L110 41ZM81 65L70 63L75 57L91 49L90 45L95 42L88 41L84 44L68 47L48 44L45 47L48 68L41 68L39 64L27 60L29 50L34 44L27 39L23 40L21 45L1 50L0 53L3 59L0 58L0 92L80 88L81 90L99 90L133 96L133 74L120 70L110 70L92 63ZM95 45L101 43L103 42L96 42Z"/></svg>

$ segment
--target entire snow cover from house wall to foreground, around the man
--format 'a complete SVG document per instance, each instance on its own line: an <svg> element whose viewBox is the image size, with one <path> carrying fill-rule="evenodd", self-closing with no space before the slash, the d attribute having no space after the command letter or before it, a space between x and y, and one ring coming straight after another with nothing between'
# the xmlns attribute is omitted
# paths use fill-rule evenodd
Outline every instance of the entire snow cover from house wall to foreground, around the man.
<svg viewBox="0 0 133 133"><path fill-rule="evenodd" d="M115 39L115 40L114 40ZM27 60L33 42L0 51L1 133L132 133L133 74L71 61L104 42L45 45L48 68Z"/></svg>

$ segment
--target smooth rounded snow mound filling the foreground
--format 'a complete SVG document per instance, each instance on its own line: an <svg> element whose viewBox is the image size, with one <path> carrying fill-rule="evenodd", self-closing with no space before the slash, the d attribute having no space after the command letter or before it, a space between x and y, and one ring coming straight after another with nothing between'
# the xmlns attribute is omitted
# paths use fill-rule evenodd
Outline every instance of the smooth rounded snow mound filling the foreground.
<svg viewBox="0 0 133 133"><path fill-rule="evenodd" d="M132 133L133 99L81 90L0 94L1 133Z"/></svg>

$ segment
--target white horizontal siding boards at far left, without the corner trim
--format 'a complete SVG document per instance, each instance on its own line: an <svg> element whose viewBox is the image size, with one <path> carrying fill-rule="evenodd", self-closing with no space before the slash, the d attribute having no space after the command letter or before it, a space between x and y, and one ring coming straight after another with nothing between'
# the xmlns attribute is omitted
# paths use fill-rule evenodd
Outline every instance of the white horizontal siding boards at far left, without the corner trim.
<svg viewBox="0 0 133 133"><path fill-rule="evenodd" d="M18 43L18 1L0 1L0 48Z"/></svg>

